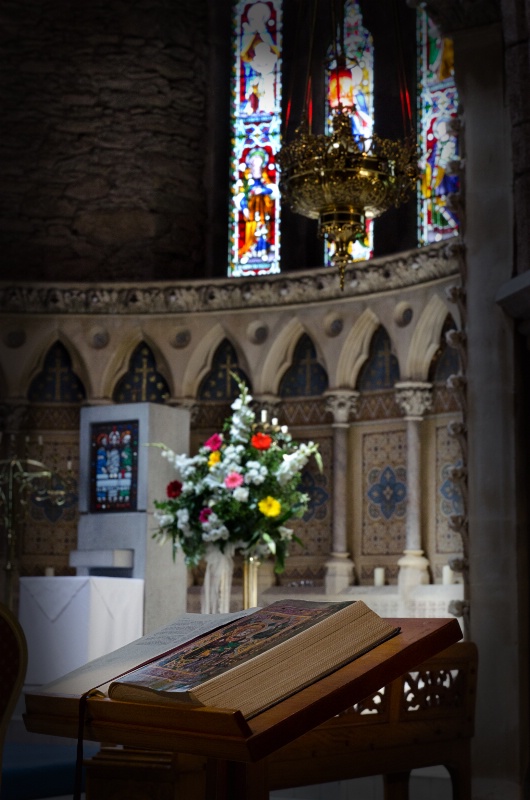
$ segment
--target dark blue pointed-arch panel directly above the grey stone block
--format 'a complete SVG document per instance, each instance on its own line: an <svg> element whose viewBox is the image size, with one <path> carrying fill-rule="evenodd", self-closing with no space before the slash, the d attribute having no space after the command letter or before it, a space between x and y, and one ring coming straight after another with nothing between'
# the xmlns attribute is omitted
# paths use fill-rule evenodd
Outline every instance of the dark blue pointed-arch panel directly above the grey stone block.
<svg viewBox="0 0 530 800"><path fill-rule="evenodd" d="M129 369L121 378L112 399L115 403L165 403L169 397L165 378L157 371L151 348L141 342L129 361Z"/></svg>

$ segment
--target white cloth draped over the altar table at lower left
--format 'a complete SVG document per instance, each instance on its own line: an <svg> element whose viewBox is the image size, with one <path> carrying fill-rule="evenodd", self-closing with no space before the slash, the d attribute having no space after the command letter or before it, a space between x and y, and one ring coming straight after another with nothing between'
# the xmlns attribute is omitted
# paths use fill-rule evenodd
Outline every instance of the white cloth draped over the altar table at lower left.
<svg viewBox="0 0 530 800"><path fill-rule="evenodd" d="M143 596L144 581L136 578L21 578L25 683L49 683L140 638Z"/></svg>

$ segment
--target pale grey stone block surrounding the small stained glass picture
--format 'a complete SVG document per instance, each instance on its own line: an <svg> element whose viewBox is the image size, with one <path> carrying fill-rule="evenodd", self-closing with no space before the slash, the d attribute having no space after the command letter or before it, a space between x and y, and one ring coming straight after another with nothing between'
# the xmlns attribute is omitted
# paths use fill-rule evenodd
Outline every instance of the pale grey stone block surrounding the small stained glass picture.
<svg viewBox="0 0 530 800"><path fill-rule="evenodd" d="M137 500L129 511L94 511L91 426L134 421L138 426ZM144 633L186 611L187 574L181 554L173 561L171 543L153 539L153 501L166 497L175 469L162 458L163 442L176 453L189 451L190 411L158 403L123 403L83 408L80 429L78 549L70 564L78 575L142 578L145 581ZM119 558L117 558L119 556ZM117 566L118 564L118 566ZM126 567L123 565L127 565Z"/></svg>

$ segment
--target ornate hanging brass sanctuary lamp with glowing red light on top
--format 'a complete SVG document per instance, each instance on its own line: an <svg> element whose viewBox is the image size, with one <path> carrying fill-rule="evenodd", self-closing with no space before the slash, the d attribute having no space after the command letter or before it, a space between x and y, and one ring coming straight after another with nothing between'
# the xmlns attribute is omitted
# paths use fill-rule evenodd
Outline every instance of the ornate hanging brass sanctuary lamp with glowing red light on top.
<svg viewBox="0 0 530 800"><path fill-rule="evenodd" d="M317 219L319 236L334 245L331 263L338 267L341 289L346 265L352 262L350 245L365 238L366 221L402 205L419 177L412 133L401 142L353 133L352 72L344 52L343 24L342 20L330 71L331 131L312 133L304 109L293 140L278 155L282 196L295 213Z"/></svg>

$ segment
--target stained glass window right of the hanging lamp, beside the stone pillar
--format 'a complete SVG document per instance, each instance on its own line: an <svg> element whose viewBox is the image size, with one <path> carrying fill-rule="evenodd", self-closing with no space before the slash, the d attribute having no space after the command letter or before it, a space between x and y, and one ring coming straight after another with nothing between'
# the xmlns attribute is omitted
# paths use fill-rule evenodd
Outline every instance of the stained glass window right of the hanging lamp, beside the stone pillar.
<svg viewBox="0 0 530 800"><path fill-rule="evenodd" d="M459 190L458 176L450 174L458 158L458 138L451 128L458 94L452 40L440 36L424 11L418 12L418 73L418 241L428 244L458 234L458 218L449 205L449 196Z"/></svg>

